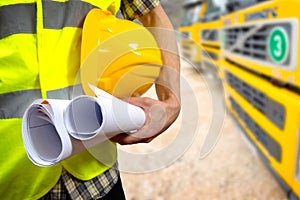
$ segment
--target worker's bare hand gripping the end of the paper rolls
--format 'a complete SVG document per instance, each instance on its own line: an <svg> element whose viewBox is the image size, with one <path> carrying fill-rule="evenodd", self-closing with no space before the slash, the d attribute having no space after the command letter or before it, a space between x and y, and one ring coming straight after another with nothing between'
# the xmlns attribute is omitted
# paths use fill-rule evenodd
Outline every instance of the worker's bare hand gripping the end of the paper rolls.
<svg viewBox="0 0 300 200"><path fill-rule="evenodd" d="M111 141L122 145L152 141L176 120L180 111L180 103L175 99L163 102L148 97L132 97L129 103L144 109L146 122L135 133L122 133L111 138Z"/></svg>

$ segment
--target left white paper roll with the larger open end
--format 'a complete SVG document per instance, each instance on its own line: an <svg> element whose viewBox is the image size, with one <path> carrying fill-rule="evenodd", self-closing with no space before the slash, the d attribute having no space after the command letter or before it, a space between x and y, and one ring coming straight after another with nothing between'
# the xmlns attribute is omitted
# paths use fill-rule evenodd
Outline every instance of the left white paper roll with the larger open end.
<svg viewBox="0 0 300 200"><path fill-rule="evenodd" d="M38 99L25 111L22 136L30 160L47 166L71 155L71 139L62 125L69 101Z"/></svg>

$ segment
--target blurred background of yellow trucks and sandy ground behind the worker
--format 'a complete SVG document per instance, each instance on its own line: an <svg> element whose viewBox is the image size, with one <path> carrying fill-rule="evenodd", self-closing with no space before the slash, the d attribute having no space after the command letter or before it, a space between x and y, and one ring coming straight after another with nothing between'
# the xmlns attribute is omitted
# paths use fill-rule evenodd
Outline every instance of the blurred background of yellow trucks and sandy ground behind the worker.
<svg viewBox="0 0 300 200"><path fill-rule="evenodd" d="M300 2L161 3L182 112L150 144L119 146L134 155L120 159L127 199L299 199Z"/></svg>

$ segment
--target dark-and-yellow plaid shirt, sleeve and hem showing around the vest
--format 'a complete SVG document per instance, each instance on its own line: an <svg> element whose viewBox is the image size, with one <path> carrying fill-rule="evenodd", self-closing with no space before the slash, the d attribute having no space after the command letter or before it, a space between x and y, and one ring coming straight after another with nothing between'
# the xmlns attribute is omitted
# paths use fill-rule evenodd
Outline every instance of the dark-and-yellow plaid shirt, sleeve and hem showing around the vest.
<svg viewBox="0 0 300 200"><path fill-rule="evenodd" d="M120 9L124 18L133 20L147 14L159 4L159 0L121 0ZM57 184L41 199L99 199L113 188L118 178L117 164L103 174L88 181L79 180L63 169Z"/></svg>

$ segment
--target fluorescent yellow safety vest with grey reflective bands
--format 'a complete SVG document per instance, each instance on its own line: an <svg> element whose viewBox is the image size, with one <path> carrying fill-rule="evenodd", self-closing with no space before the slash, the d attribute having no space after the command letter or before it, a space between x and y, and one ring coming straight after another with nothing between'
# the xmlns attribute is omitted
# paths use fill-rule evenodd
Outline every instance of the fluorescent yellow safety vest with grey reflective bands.
<svg viewBox="0 0 300 200"><path fill-rule="evenodd" d="M99 7L115 13L120 0L0 1L0 198L37 199L58 181L62 167L88 180L106 166L85 151L52 167L33 165L21 134L24 110L38 98L73 97L85 15ZM97 149L110 165L116 149Z"/></svg>

